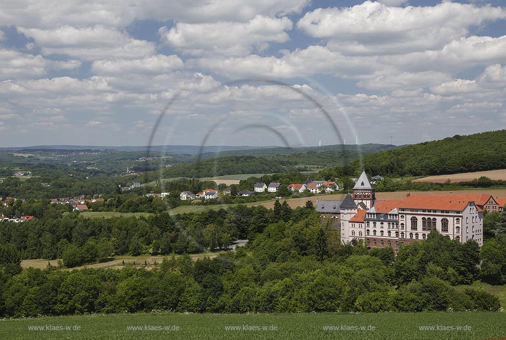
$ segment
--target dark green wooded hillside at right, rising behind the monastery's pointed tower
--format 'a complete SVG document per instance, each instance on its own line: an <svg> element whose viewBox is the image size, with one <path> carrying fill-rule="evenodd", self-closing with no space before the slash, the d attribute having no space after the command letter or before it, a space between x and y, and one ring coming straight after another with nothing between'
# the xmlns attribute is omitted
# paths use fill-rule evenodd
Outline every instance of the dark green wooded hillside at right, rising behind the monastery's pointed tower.
<svg viewBox="0 0 506 340"><path fill-rule="evenodd" d="M355 160L369 174L425 176L506 168L506 130L455 135Z"/></svg>

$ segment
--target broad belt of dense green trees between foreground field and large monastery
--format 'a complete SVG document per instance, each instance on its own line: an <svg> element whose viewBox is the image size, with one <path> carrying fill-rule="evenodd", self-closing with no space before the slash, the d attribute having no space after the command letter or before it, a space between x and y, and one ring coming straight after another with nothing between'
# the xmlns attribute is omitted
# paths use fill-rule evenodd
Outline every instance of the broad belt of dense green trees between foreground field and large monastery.
<svg viewBox="0 0 506 340"><path fill-rule="evenodd" d="M426 241L403 246L396 256L390 247L367 250L360 242L341 245L339 232L321 228L310 204L289 214L260 209L238 206L230 212L188 214L177 218L179 228L164 214L151 220L88 222L70 214L61 221L28 222L17 230L12 227L10 236L4 232L0 243L0 316L152 310L256 313L500 308L497 297L483 290L470 287L462 291L453 285L480 278L503 284L504 234L486 240L480 251L472 240L461 244L433 230ZM236 252L195 263L187 254L171 256L161 264L149 264L153 270L125 266L70 272L48 266L21 271L19 267L23 251L52 248L63 251L64 259L70 261L107 257L121 252L121 247L131 253L149 251L156 247L156 240L160 240L160 247L173 247L164 252L197 251L195 244L219 248L219 226L227 233L254 237ZM188 231L188 238L181 230ZM179 233L176 242L170 236L174 232ZM6 243L6 237L11 242ZM53 241L48 241L51 237ZM186 250L179 248L182 239L190 244ZM64 240L72 243L65 247ZM20 246L25 250L18 250Z"/></svg>

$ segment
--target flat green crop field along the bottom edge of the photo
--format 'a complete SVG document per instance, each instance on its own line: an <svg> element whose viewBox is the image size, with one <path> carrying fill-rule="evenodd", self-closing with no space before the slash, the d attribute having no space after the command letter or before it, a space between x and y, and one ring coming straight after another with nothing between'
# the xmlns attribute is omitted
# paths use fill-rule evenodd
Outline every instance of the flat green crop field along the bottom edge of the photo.
<svg viewBox="0 0 506 340"><path fill-rule="evenodd" d="M505 320L506 314L500 312L111 314L0 320L0 338L55 340L490 339L506 336ZM37 326L42 329L33 329ZM47 329L48 326L50 329ZM325 330L326 326L335 326L335 328ZM30 330L29 327L32 329ZM58 330L60 327L62 329ZM70 329L67 330L66 327ZM79 330L77 330L78 327ZM132 329L133 327L137 329ZM229 329L227 330L226 327ZM230 327L235 329L230 329ZM427 328L420 330L420 327L434 327L434 330ZM447 328L444 329L444 327ZM454 327L453 330L450 327ZM461 327L461 329L456 327Z"/></svg>

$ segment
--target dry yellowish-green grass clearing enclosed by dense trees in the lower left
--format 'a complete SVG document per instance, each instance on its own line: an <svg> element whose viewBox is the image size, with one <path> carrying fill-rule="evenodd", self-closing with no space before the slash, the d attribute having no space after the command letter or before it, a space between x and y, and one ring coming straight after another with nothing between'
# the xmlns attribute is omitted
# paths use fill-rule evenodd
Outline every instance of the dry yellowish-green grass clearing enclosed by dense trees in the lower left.
<svg viewBox="0 0 506 340"><path fill-rule="evenodd" d="M203 259L203 258L215 258L223 251L218 252L211 252L211 253L199 253L199 254L190 254L190 258L193 261L197 261L197 259ZM170 256L169 256L170 257ZM179 257L179 255L176 255L176 258ZM82 268L110 268L110 269L120 269L123 267L123 261L125 265L133 265L134 262L136 265L139 265L140 267L144 267L144 262L146 261L148 266L151 267L154 262L159 265L163 261L163 256L151 256L151 255L142 255L142 256L116 256L110 259L110 261L107 262L101 262L101 263L94 263L91 265L86 266L80 266L80 267L73 267L69 268L69 270L73 269L82 269ZM39 269L45 269L48 266L48 262L51 263L52 266L58 265L58 259L57 260L23 260L21 261L21 267L28 268L39 268ZM1 338L1 337L0 337Z"/></svg>

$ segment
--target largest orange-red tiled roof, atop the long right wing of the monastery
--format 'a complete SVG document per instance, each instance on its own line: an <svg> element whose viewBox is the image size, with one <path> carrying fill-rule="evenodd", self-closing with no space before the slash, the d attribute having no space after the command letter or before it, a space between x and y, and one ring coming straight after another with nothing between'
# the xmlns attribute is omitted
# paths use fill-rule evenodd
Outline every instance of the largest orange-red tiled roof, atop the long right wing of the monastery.
<svg viewBox="0 0 506 340"><path fill-rule="evenodd" d="M469 195L411 195L399 204L399 208L462 211L469 202L474 202Z"/></svg>

